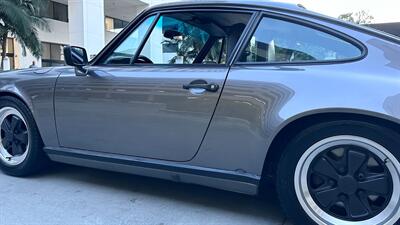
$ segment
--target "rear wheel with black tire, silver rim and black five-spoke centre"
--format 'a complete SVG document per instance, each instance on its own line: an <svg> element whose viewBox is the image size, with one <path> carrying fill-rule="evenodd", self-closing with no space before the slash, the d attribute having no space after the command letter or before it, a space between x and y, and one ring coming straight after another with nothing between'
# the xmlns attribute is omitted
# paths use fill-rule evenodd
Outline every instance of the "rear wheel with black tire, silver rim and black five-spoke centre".
<svg viewBox="0 0 400 225"><path fill-rule="evenodd" d="M296 225L398 224L400 135L357 121L312 126L278 164L281 206Z"/></svg>

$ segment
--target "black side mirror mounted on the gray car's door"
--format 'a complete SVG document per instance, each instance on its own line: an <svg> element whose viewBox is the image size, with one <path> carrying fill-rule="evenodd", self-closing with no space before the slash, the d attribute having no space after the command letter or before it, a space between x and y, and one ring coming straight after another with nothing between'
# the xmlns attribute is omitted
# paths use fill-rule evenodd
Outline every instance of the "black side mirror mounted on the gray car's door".
<svg viewBox="0 0 400 225"><path fill-rule="evenodd" d="M89 62L86 49L76 46L66 46L64 47L64 60L67 65L74 66L79 72L86 74L87 71L83 69Z"/></svg>

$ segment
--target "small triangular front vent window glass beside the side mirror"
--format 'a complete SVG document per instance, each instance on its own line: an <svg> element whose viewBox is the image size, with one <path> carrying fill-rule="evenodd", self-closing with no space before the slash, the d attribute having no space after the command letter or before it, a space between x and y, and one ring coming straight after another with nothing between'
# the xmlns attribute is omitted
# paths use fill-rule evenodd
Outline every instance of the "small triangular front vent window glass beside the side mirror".
<svg viewBox="0 0 400 225"><path fill-rule="evenodd" d="M155 16L147 18L140 24L105 60L107 65L128 65L136 54L140 43L153 23Z"/></svg>

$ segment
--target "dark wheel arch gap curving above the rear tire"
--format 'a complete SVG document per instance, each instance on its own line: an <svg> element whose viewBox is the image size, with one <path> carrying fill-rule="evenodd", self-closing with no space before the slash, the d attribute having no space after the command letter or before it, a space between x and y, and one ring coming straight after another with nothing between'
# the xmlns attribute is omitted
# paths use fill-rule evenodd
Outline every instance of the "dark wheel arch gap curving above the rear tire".
<svg viewBox="0 0 400 225"><path fill-rule="evenodd" d="M283 148L286 147L289 140L308 127L338 120L367 122L400 133L400 119L369 111L348 112L335 110L331 112L309 112L294 116L273 135L264 160L259 192L275 184L277 164L283 153Z"/></svg>

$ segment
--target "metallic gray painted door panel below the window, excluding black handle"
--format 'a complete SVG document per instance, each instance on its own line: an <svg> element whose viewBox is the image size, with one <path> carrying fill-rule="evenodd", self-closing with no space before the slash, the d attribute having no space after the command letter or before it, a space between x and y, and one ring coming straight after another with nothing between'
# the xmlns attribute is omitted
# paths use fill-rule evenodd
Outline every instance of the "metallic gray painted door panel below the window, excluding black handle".
<svg viewBox="0 0 400 225"><path fill-rule="evenodd" d="M76 77L69 70L57 81L61 147L171 161L197 153L221 93L194 95L182 86L203 79L222 87L228 73L219 66L91 70L96 75Z"/></svg>

